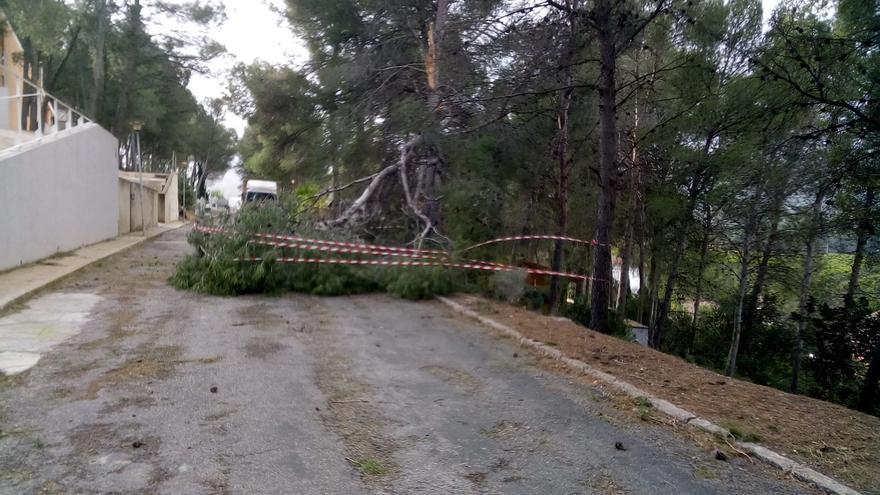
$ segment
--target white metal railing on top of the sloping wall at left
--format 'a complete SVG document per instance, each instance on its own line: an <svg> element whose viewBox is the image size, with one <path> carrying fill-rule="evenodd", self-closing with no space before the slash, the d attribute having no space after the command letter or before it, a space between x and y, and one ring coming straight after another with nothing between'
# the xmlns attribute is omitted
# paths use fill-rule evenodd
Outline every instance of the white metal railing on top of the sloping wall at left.
<svg viewBox="0 0 880 495"><path fill-rule="evenodd" d="M8 120L0 121L0 128L17 130L23 139L26 133L34 133L36 137L48 136L92 122L92 119L43 89L40 84L28 81L6 64L0 67L0 88L11 88L17 93L0 96L0 101L9 102L6 116ZM13 84L9 84L7 78ZM40 79L42 80L42 71ZM0 115L0 119L2 118ZM19 142L23 141L20 139Z"/></svg>

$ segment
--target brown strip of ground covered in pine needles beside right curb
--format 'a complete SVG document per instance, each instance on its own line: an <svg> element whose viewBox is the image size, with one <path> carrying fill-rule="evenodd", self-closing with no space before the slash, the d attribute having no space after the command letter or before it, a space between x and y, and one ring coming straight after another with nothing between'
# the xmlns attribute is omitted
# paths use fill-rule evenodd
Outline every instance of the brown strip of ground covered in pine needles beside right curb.
<svg viewBox="0 0 880 495"><path fill-rule="evenodd" d="M741 380L504 303L455 300L701 417L864 491L880 493L880 418Z"/></svg>

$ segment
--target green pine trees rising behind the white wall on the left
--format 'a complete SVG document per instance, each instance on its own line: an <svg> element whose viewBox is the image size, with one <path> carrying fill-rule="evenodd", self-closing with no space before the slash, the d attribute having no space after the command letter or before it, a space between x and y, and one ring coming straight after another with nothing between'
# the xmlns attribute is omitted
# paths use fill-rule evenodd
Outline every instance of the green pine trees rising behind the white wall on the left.
<svg viewBox="0 0 880 495"><path fill-rule="evenodd" d="M173 158L189 159L201 196L207 176L231 165L237 136L220 122L223 105L187 89L225 50L210 37L222 4L0 0L0 9L24 47L16 63L38 67L35 82L115 134L123 158L138 121L144 163L165 170L178 165Z"/></svg>

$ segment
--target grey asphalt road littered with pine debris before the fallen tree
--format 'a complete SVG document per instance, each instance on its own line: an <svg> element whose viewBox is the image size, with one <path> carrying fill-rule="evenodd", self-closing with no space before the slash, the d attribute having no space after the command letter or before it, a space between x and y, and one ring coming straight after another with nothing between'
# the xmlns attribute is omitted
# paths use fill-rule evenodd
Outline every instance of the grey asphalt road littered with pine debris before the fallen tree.
<svg viewBox="0 0 880 495"><path fill-rule="evenodd" d="M171 232L37 296L99 299L0 381L0 493L807 491L438 303L181 292L188 251Z"/></svg>

